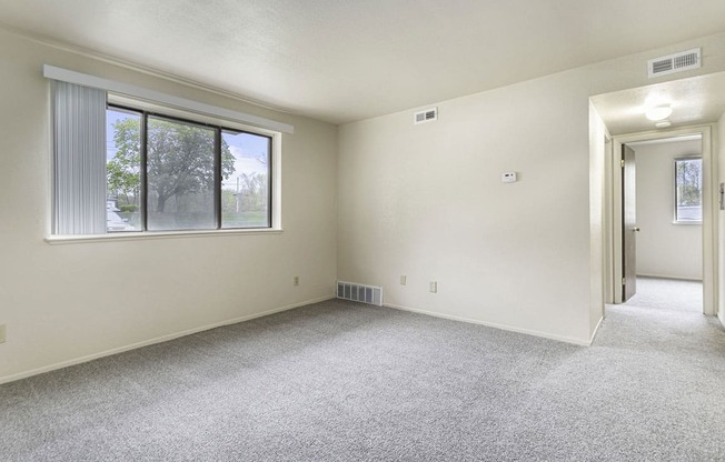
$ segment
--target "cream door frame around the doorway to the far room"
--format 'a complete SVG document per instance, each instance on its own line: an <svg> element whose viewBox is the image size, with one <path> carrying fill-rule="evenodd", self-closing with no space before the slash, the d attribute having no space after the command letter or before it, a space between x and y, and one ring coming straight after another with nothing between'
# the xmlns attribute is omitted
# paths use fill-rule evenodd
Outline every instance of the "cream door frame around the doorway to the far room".
<svg viewBox="0 0 725 462"><path fill-rule="evenodd" d="M607 255L609 261L608 268L612 269L612 279L605 278L606 302L618 304L622 303L622 174L619 160L622 158L622 145L635 141L650 141L666 138L685 137L688 134L702 135L702 155L703 155L703 313L715 315L717 312L717 159L713 157L713 125L701 124L682 127L671 130L645 131L638 133L619 134L612 137L612 143L606 162L610 165L607 169L609 178L606 179L610 184L608 188L609 207L612 210L612 223L608 229L612 243L612 252ZM617 153L619 153L617 155Z"/></svg>

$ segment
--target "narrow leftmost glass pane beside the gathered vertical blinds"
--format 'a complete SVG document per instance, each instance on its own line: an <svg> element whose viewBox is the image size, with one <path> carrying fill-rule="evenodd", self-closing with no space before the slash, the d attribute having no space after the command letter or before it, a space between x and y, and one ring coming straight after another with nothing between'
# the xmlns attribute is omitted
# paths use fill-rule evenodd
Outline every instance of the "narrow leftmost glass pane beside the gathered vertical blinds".
<svg viewBox="0 0 725 462"><path fill-rule="evenodd" d="M106 111L106 230L140 231L141 114Z"/></svg>

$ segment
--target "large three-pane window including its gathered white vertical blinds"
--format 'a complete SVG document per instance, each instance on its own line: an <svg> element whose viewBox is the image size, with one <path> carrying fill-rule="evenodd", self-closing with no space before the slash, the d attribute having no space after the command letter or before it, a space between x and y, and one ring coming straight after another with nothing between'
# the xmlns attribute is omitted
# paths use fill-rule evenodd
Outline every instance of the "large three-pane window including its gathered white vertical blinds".
<svg viewBox="0 0 725 462"><path fill-rule="evenodd" d="M271 228L272 135L54 91L54 234Z"/></svg>

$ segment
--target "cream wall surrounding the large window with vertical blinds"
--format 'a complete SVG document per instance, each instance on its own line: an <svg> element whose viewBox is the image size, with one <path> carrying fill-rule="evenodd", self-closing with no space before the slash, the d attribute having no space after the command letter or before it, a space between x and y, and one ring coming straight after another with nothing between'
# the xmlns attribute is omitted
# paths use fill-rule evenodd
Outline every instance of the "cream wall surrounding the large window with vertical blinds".
<svg viewBox="0 0 725 462"><path fill-rule="evenodd" d="M295 134L282 137L284 232L47 243L51 119L43 63L294 124ZM1 30L0 82L0 324L8 338L0 382L332 294L336 127Z"/></svg>

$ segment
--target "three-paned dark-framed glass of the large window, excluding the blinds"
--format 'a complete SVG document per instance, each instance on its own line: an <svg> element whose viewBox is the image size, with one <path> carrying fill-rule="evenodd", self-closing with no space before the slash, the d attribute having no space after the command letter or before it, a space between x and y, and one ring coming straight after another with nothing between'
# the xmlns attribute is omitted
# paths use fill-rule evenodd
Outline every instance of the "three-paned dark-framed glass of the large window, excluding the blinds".
<svg viewBox="0 0 725 462"><path fill-rule="evenodd" d="M107 121L109 201L131 224L109 232L271 225L270 137L113 106Z"/></svg>

